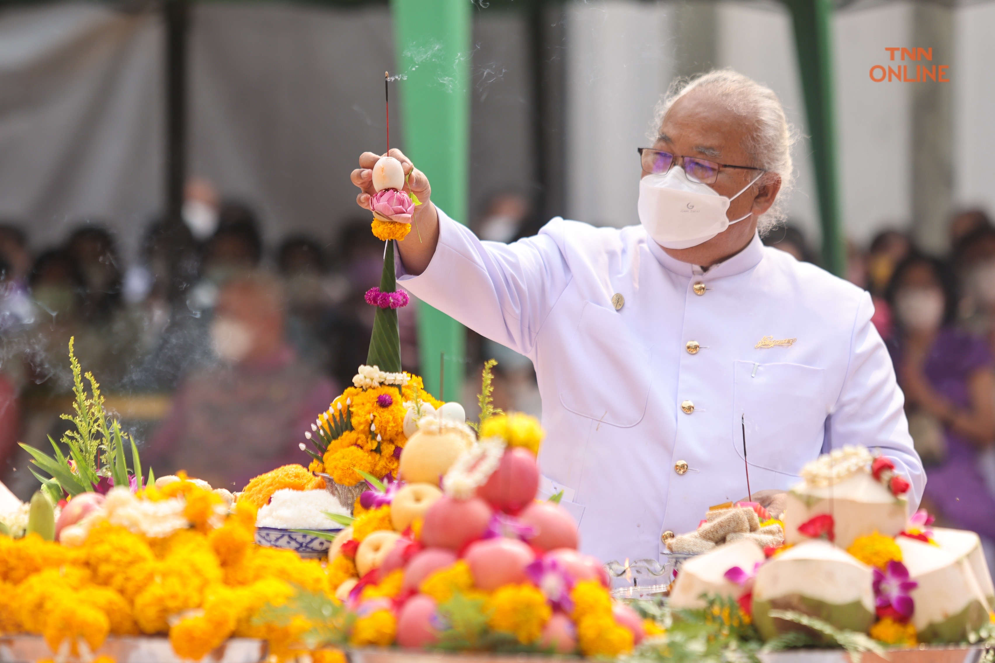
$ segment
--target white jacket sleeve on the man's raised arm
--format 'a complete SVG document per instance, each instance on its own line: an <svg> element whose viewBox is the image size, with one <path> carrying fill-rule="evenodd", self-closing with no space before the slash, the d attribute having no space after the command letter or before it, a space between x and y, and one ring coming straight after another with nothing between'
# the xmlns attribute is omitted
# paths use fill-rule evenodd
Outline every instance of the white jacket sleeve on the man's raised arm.
<svg viewBox="0 0 995 663"><path fill-rule="evenodd" d="M535 237L481 242L439 210L439 245L418 276L397 259L398 284L477 333L534 359L535 336L570 282L553 220Z"/></svg>

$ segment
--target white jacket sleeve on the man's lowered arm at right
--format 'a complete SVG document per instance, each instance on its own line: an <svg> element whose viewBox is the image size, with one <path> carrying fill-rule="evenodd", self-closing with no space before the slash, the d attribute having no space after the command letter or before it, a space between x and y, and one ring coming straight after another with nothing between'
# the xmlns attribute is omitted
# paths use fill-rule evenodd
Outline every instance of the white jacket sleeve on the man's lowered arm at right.
<svg viewBox="0 0 995 663"><path fill-rule="evenodd" d="M885 342L871 323L871 295L861 297L850 345L850 366L843 390L830 416L830 435L835 447L863 444L879 448L895 461L898 473L911 483L909 513L918 509L926 476L919 454L912 446L905 418L905 397L898 387L895 366Z"/></svg>

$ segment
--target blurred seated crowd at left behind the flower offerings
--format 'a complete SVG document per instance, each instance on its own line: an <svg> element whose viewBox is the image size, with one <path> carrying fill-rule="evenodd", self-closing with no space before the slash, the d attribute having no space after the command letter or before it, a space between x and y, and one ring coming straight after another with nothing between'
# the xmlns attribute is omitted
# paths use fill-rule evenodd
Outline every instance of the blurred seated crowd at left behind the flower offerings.
<svg viewBox="0 0 995 663"><path fill-rule="evenodd" d="M497 241L534 234L527 202L492 197L478 223ZM81 221L33 251L24 226L0 222L0 481L22 498L37 481L18 441L60 439L72 409L70 338L157 474L186 469L241 487L277 464L305 461L302 433L366 363L383 244L357 216L326 238L264 242L256 211L187 186L182 222L149 225L134 259L113 234ZM401 356L418 371L417 306L399 309ZM480 367L496 357L497 407L538 414L531 363L471 334Z"/></svg>

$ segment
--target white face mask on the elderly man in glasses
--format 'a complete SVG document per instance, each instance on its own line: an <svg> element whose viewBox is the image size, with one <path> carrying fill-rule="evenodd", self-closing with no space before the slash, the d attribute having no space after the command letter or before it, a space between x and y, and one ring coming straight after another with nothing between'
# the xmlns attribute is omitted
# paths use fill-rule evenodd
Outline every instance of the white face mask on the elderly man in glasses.
<svg viewBox="0 0 995 663"><path fill-rule="evenodd" d="M661 247L697 247L752 214L732 221L725 216L729 204L762 176L761 172L735 196L726 198L707 184L692 182L680 166L663 175L647 175L639 181L639 221Z"/></svg>

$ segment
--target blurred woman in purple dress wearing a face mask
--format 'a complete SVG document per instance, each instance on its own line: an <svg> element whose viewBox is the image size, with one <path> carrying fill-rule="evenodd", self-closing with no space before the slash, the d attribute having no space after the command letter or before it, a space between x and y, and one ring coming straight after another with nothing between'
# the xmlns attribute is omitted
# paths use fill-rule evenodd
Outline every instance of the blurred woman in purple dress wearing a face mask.
<svg viewBox="0 0 995 663"><path fill-rule="evenodd" d="M992 353L954 327L953 278L939 260L914 254L898 263L888 299L896 318L889 350L926 465L923 503L949 526L987 539L991 551L995 498L977 460L995 443Z"/></svg>

